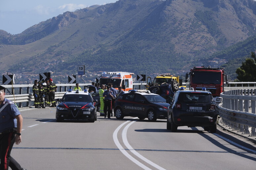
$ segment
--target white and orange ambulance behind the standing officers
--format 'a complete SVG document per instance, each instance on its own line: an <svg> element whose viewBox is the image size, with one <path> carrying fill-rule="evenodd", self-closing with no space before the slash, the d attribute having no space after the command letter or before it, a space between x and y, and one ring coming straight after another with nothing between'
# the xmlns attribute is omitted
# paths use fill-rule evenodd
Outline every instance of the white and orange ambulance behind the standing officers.
<svg viewBox="0 0 256 170"><path fill-rule="evenodd" d="M108 85L113 84L113 88L118 89L118 86L122 86L124 91L133 89L133 80L131 72L103 72L100 76L99 83Z"/></svg>

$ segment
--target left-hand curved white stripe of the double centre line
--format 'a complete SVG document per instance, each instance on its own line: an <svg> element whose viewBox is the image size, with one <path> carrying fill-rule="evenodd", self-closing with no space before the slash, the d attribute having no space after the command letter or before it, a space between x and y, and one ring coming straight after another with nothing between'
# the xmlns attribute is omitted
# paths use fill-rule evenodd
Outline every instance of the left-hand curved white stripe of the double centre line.
<svg viewBox="0 0 256 170"><path fill-rule="evenodd" d="M136 119L136 118L134 118ZM115 145L117 146L117 148L122 152L122 154L124 154L124 156L126 156L127 158L129 158L131 161L133 161L134 163L136 163L138 166L140 166L143 169L147 169L147 170L151 170L149 167L145 166L144 164L142 164L141 162L139 162L137 159L135 159L134 157L132 157L130 154L127 153L127 151L125 151L125 149L121 146L121 144L119 143L118 139L117 139L117 132L120 130L120 128L122 126L124 126L126 123L128 123L130 121L126 121L124 123L122 123L119 127L117 127L113 133L113 140L115 142Z"/></svg>

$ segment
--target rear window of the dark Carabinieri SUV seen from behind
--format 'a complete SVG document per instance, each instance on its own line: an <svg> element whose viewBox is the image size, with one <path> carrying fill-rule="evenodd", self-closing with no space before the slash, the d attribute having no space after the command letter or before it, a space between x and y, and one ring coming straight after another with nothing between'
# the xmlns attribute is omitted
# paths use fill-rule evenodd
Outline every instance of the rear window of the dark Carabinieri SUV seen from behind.
<svg viewBox="0 0 256 170"><path fill-rule="evenodd" d="M181 102L209 103L212 102L213 98L211 94L206 93L181 93L178 100Z"/></svg>

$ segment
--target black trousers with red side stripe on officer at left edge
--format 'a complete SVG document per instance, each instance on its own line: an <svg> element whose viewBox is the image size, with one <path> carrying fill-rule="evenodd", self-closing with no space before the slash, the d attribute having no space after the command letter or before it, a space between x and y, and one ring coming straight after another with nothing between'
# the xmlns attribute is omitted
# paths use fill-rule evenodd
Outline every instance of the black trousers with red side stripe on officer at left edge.
<svg viewBox="0 0 256 170"><path fill-rule="evenodd" d="M12 170L21 170L21 165L11 156L11 151L15 142L15 133L9 132L0 134L0 169L8 170L9 166Z"/></svg>

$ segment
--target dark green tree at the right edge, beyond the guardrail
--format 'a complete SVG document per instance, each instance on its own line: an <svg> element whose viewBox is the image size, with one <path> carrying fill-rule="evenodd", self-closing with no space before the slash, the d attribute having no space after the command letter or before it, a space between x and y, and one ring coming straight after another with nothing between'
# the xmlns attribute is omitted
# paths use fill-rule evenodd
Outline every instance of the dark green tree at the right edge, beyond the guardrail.
<svg viewBox="0 0 256 170"><path fill-rule="evenodd" d="M255 82L256 81L256 57L255 53L251 52L251 58L246 58L245 62L242 62L242 66L235 71L237 73L237 79L240 82Z"/></svg>

